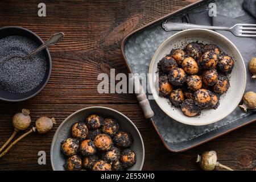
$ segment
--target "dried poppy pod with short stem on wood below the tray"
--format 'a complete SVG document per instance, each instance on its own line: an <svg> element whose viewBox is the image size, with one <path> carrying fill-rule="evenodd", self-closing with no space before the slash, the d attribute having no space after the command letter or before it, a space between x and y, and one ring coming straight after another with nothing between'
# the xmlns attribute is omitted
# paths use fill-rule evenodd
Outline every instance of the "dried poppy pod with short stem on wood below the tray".
<svg viewBox="0 0 256 182"><path fill-rule="evenodd" d="M217 162L217 154L215 151L206 151L201 156L197 155L196 162L199 162L200 167L205 171L212 171L215 167L221 167L228 169L229 171L234 171L232 168Z"/></svg>

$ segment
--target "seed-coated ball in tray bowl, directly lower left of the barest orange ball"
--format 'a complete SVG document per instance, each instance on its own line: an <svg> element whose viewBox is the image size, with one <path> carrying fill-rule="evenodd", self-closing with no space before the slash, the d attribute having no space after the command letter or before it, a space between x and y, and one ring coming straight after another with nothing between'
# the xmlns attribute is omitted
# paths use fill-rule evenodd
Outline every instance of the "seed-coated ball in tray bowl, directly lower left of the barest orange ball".
<svg viewBox="0 0 256 182"><path fill-rule="evenodd" d="M181 68L174 68L168 75L168 80L172 85L181 86L186 81L187 75Z"/></svg>

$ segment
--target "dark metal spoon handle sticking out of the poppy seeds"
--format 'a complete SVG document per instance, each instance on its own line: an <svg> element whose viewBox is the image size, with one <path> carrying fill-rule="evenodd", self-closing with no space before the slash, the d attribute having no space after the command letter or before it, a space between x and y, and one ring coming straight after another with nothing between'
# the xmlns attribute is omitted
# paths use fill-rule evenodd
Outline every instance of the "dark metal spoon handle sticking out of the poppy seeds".
<svg viewBox="0 0 256 182"><path fill-rule="evenodd" d="M31 53L29 53L26 57L24 57L24 59L27 59L28 57L34 55L35 53L42 51L43 49L47 48L48 46L53 46L54 44L56 44L57 42L59 42L61 39L63 39L64 34L63 32L59 32L57 34L53 34L48 40L47 42L45 42L44 44L42 44L41 46L39 46L38 48L36 48L34 51L32 51Z"/></svg>

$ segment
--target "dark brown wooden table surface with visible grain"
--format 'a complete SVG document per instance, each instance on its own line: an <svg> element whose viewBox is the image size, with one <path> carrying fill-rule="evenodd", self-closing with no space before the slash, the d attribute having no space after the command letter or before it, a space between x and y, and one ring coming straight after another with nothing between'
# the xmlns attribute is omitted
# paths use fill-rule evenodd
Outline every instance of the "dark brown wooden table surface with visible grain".
<svg viewBox="0 0 256 182"><path fill-rule="evenodd" d="M99 94L99 73L127 73L120 52L124 36L161 16L196 0L187 1L43 1L46 17L38 16L41 1L0 1L0 27L21 26L43 40L62 31L64 40L49 48L51 78L38 96L20 103L0 102L0 144L13 133L12 117L23 107L32 121L47 115L57 125L46 135L31 134L0 159L2 170L51 170L52 137L60 123L74 111L88 106L107 106L127 115L138 127L145 146L144 170L197 170L197 154L215 150L218 160L240 170L255 170L256 123L181 153L168 151L154 127L144 119L134 94ZM46 151L47 164L38 164L38 152Z"/></svg>

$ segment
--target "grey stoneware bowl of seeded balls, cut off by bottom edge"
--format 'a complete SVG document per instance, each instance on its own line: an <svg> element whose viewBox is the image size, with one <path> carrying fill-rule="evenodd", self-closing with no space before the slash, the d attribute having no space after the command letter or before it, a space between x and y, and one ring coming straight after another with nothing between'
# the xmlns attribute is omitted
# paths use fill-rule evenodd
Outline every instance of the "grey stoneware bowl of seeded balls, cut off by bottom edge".
<svg viewBox="0 0 256 182"><path fill-rule="evenodd" d="M52 169L54 171L64 171L63 165L65 164L65 157L61 152L61 142L69 137L71 137L71 127L73 123L78 121L85 121L86 117L89 114L99 114L102 117L113 117L117 119L120 130L129 132L133 138L134 142L131 144L130 149L133 150L137 156L137 162L134 164L134 166L128 168L130 171L140 171L143 167L144 163L144 144L141 137L141 134L139 133L139 130L134 125L133 122L129 118L127 118L122 113L110 109L108 107L86 107L84 109L81 109L79 111L76 111L75 113L69 115L65 121L61 123L59 128L57 129L51 144L51 164Z"/></svg>

